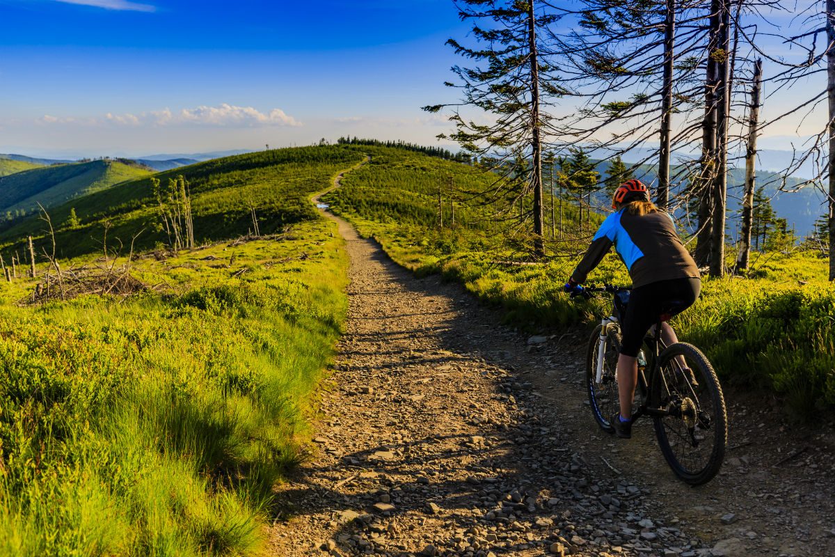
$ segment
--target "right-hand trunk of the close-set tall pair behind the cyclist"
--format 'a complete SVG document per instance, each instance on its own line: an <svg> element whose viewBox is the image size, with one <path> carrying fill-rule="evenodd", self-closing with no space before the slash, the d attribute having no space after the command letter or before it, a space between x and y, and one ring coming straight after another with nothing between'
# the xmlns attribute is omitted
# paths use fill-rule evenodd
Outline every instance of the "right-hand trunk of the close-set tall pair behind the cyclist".
<svg viewBox="0 0 835 557"><path fill-rule="evenodd" d="M731 96L730 88L730 48L731 10L727 0L721 0L721 25L719 28L719 48L724 55L719 63L719 87L716 99L716 150L719 155L719 168L713 182L713 233L711 235L711 276L725 274L725 210L727 195L727 160L728 160L728 109Z"/></svg>

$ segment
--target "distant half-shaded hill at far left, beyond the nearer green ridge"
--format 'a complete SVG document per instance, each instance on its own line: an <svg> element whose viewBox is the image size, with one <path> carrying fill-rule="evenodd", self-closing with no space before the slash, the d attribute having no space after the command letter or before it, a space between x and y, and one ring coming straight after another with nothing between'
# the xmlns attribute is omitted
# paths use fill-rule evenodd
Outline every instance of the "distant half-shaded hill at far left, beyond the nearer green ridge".
<svg viewBox="0 0 835 557"><path fill-rule="evenodd" d="M0 211L8 217L15 213L26 215L36 210L38 203L52 207L151 173L147 167L126 162L91 160L38 167L4 176L0 178Z"/></svg>

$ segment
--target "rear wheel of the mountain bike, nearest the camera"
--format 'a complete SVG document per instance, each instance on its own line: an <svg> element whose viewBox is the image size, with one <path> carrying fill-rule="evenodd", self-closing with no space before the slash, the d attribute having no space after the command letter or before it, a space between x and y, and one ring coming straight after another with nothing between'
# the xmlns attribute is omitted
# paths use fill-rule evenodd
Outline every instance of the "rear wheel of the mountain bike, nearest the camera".
<svg viewBox="0 0 835 557"><path fill-rule="evenodd" d="M668 411L653 419L661 453L684 482L706 484L719 472L727 443L725 397L711 362L677 342L661 352L652 390L653 402Z"/></svg>

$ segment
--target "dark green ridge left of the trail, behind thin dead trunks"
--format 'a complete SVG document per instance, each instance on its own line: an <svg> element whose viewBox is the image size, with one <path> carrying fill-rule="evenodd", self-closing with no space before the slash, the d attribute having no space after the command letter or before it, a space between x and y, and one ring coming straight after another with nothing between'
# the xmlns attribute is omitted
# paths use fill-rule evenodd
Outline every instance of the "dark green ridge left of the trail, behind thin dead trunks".
<svg viewBox="0 0 835 557"><path fill-rule="evenodd" d="M250 204L256 206L262 234L315 218L308 195L362 158L362 153L350 147L275 149L209 160L154 176L163 185L178 175L189 180L195 238L198 242L216 241L245 234L251 228ZM107 233L110 246L118 241L128 245L139 230L144 232L137 239L138 249L167 242L149 177L123 182L50 210L56 228L67 222L73 208L81 224L58 230L60 256L99 251L105 222L111 226ZM8 259L8 254L23 247L23 238L30 234L40 252L49 243L44 228L38 218L18 222L0 232L0 252Z"/></svg>

